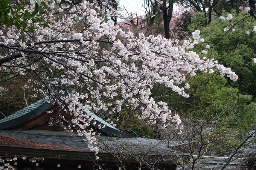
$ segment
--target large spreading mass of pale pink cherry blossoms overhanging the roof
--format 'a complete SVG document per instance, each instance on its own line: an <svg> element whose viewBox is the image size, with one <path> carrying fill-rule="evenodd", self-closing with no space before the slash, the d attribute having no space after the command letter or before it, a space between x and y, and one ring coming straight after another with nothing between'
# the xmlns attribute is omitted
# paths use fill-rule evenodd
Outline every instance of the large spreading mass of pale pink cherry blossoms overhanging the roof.
<svg viewBox="0 0 256 170"><path fill-rule="evenodd" d="M198 70L212 73L215 68L231 80L238 79L216 60L200 59L189 50L204 42L199 30L193 33L197 41L179 42L143 33L134 37L130 30L123 31L112 20L105 21L105 16L124 16L107 1L102 1L107 13L94 1L82 0L75 5L72 1L61 5L53 0L45 3L52 10L44 11L41 17L50 22L49 27L30 20L28 27L33 23L35 33L21 33L14 26L0 30L0 47L6 50L0 56L0 69L21 75L32 73L35 78L28 80L24 88L53 96L49 102L59 105L60 114L72 117L70 122L64 116L59 118L66 130L72 133L72 128L77 129L95 153L99 149L98 134L88 128L95 121L88 110L114 114L128 108L139 119L152 124L161 120L163 126L174 123L178 129L180 117L172 116L165 102L152 98L154 84L163 84L188 98L185 89L189 84L182 84ZM32 12L34 6L28 5L24 10ZM67 87L72 87L70 93Z"/></svg>

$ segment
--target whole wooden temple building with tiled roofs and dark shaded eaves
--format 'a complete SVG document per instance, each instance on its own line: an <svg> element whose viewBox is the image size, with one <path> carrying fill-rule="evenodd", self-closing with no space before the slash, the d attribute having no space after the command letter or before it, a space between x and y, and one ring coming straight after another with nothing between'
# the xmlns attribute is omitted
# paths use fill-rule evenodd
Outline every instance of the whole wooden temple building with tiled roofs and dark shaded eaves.
<svg viewBox="0 0 256 170"><path fill-rule="evenodd" d="M6 159L16 155L17 160L8 163L17 170L121 170L123 167L142 170L149 169L146 164L152 166L153 163L155 169L177 168L173 152L160 140L126 134L87 111L96 117L96 125L105 125L104 129L98 129L91 122L90 126L101 132L99 153L94 155L84 137L76 132L71 136L56 122L49 124L50 117L58 113L58 107L48 100L41 99L0 120L1 156ZM186 154L177 153L187 158Z"/></svg>

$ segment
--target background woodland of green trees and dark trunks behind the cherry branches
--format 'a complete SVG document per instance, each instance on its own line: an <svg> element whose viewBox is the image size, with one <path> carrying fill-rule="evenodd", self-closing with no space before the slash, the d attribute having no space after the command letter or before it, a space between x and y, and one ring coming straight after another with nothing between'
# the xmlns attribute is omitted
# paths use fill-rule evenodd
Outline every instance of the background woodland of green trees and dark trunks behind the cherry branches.
<svg viewBox="0 0 256 170"><path fill-rule="evenodd" d="M238 75L238 80L233 82L217 72L208 74L198 71L197 75L188 76L189 78L184 81L184 84L190 84L190 88L186 90L189 98L184 98L160 84L154 85L151 96L157 101L168 103L172 111L182 115L183 119L221 120L224 124L236 125L234 121L239 115L245 119L248 126L254 126L255 120L251 119L251 116L256 113L256 68L253 62L253 58L256 57L256 44L254 44L256 37L251 26L256 25L256 21L248 12L239 10L239 2L233 2L231 5L227 2L209 1L211 5L208 6L205 5L206 2L200 0L175 3L178 3L178 8L170 14L172 18L169 20L169 38L182 42L184 39L192 39L192 32L200 30L204 42L195 45L192 50L202 58L206 56L218 60L224 66L231 68ZM142 6L146 10L145 16L137 16L117 24L123 30L129 28L137 36L139 33L165 36L163 7L150 1L142 2ZM209 10L212 10L211 15ZM232 20L220 18L221 16L226 18L229 14L232 14ZM235 29L225 33L224 26ZM250 34L248 35L247 32ZM210 48L208 53L204 54L201 51L206 49L206 45ZM135 121L131 115L129 111L115 115L125 120L117 122L117 126L128 133L155 137L157 132L148 129L142 131L146 123ZM129 122L126 122L127 118Z"/></svg>

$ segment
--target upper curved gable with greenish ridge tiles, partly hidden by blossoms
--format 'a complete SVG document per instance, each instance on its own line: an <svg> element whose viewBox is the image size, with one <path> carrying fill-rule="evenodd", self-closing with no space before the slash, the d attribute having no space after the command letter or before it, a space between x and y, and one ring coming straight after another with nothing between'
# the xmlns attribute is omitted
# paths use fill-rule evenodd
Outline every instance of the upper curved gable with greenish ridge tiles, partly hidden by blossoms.
<svg viewBox="0 0 256 170"><path fill-rule="evenodd" d="M47 113L47 111L52 111ZM0 120L0 130L3 129L17 129L17 130L26 130L32 128L46 120L49 120L50 117L55 116L58 113L58 106L53 104L50 101L50 97L47 96L44 99L40 99L37 102L17 111L16 113L11 114L8 117ZM94 128L97 132L103 132L116 137L134 137L133 135L126 134L114 126L107 123L105 120L96 116L96 114L87 110L85 112L90 117L94 117L94 121L90 121L90 126ZM95 122L96 124L93 124ZM98 125L105 125L105 128L98 128Z"/></svg>

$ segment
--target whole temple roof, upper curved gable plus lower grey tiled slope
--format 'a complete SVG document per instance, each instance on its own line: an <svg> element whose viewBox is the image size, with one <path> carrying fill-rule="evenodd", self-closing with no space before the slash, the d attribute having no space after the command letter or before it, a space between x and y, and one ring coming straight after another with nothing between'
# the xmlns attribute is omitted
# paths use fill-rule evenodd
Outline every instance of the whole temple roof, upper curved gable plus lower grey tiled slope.
<svg viewBox="0 0 256 170"><path fill-rule="evenodd" d="M59 129L57 130L57 126L49 125L49 118L58 114L58 106L49 100L50 98L47 96L0 120L0 147L6 146L10 150L15 148L14 150L20 153L28 149L47 149L54 150L56 153L65 152L65 154L70 151L93 153L87 148L88 142L84 140L83 136L79 137L77 132L71 136L64 131L63 127L58 126ZM47 113L47 111L52 111L52 113ZM99 153L105 154L106 151L111 153L114 150L116 153L124 154L134 152L135 155L174 155L174 152L161 140L126 134L91 111L87 110L85 113L95 117L94 121L90 122L90 127L94 128L97 133L101 133L97 137L97 145L101 148ZM96 124L93 125L93 122ZM99 129L98 124L105 125L105 128ZM174 147L181 145L175 141L172 144ZM36 153L39 156L44 156L39 150ZM179 151L175 152L175 155L177 154L187 155Z"/></svg>

